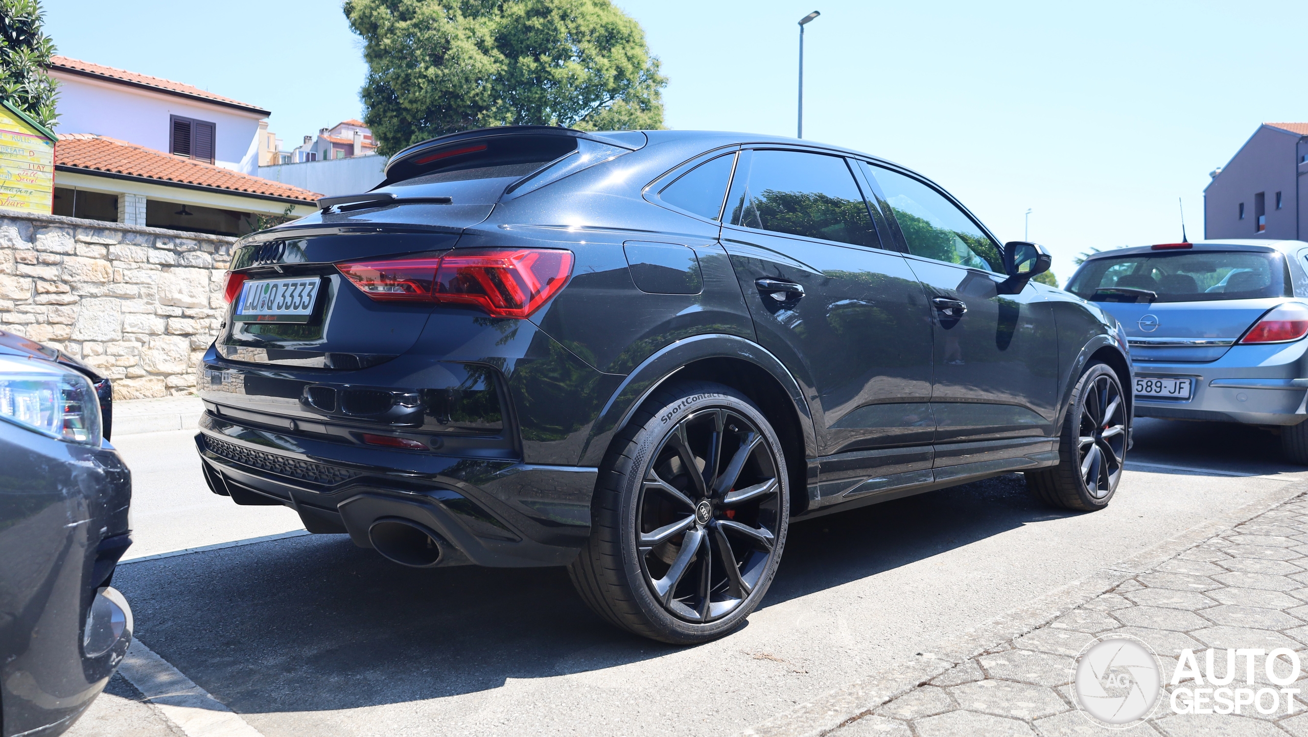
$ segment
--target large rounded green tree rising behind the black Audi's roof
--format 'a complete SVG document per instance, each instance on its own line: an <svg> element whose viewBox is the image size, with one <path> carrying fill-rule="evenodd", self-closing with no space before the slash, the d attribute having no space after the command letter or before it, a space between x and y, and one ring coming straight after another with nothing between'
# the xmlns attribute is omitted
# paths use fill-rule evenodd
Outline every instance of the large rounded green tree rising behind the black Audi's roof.
<svg viewBox="0 0 1308 737"><path fill-rule="evenodd" d="M379 152L504 124L659 128L667 80L610 0L347 0Z"/></svg>

